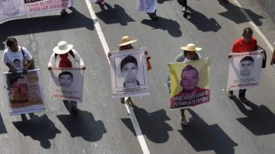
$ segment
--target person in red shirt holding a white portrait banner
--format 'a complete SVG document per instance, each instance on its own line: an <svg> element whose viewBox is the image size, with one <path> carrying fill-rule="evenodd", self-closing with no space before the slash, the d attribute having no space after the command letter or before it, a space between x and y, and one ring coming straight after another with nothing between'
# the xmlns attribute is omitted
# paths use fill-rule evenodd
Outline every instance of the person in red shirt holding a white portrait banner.
<svg viewBox="0 0 275 154"><path fill-rule="evenodd" d="M254 51L255 47L257 46L257 40L253 36L253 30L250 27L246 27L243 29L243 37L238 38L234 41L232 47L232 53L244 53ZM231 58L232 55L228 55L228 58ZM239 99L241 102L247 104L249 103L248 99L245 98L246 89L239 90ZM228 96L232 97L233 91L230 90L228 92Z"/></svg>

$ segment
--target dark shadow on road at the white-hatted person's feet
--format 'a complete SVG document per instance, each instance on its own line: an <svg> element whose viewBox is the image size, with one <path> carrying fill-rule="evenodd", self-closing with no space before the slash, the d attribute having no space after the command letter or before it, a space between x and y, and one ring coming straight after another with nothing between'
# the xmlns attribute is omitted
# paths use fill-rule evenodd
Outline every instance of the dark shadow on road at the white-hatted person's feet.
<svg viewBox="0 0 275 154"><path fill-rule="evenodd" d="M96 142L103 137L107 130L102 120L95 120L93 114L78 110L78 114L56 116L72 138L82 137L88 142Z"/></svg>

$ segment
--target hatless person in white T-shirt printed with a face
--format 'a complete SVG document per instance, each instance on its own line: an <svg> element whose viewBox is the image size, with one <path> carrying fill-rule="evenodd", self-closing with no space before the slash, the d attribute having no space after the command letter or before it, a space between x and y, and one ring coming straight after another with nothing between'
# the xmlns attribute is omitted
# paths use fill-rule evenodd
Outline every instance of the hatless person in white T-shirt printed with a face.
<svg viewBox="0 0 275 154"><path fill-rule="evenodd" d="M9 72L23 71L23 73L28 73L28 70L34 69L32 68L34 67L34 60L32 60L30 51L25 47L20 47L16 38L8 38L6 44L8 48L3 53L2 61L8 66Z"/></svg>

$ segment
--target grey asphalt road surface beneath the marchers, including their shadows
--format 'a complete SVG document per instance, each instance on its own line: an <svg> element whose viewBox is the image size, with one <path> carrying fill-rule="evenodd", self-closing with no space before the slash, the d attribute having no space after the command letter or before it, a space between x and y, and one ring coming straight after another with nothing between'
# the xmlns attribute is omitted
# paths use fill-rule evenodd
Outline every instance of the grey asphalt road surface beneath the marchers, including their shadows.
<svg viewBox="0 0 275 154"><path fill-rule="evenodd" d="M252 4L245 3L245 11L273 44L274 24L259 6ZM129 35L138 40L134 47L146 47L152 57L151 95L133 98L135 116L150 153L274 153L273 66L267 64L263 70L259 88L248 90L250 105L243 105L236 97L229 99L222 90L228 78L227 55L243 28L252 27L248 18L236 1L188 1L188 5L190 15L184 18L176 0L158 0L159 18L151 21L146 13L136 11L133 0L107 1L104 7L93 3L98 17L98 21L93 21L85 1L75 1L68 16L47 12L2 22L1 51L5 49L1 42L15 36L19 44L30 49L36 67L42 69L47 110L27 115L27 121L9 116L5 91L1 90L0 153L142 153L124 105L119 99L111 99L109 63L95 22L100 23L111 51L117 50L122 36ZM269 62L270 49L256 31L254 35L267 50ZM74 44L87 66L78 116L70 116L62 101L50 99L47 62L60 40ZM179 111L168 109L169 95L164 83L168 75L166 63L181 52L179 47L190 42L202 47L201 55L212 61L212 95L210 103L188 110L189 125L183 128ZM0 70L5 72L7 68L2 64ZM0 80L3 81L2 75Z"/></svg>

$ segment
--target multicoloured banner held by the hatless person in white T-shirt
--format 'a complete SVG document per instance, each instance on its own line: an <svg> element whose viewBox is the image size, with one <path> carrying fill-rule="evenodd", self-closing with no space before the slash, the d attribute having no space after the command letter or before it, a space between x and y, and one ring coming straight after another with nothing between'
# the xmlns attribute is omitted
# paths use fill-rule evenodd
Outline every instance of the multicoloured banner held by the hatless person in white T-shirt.
<svg viewBox="0 0 275 154"><path fill-rule="evenodd" d="M27 74L3 73L3 75L10 115L43 112L45 110L40 69L29 70Z"/></svg>

